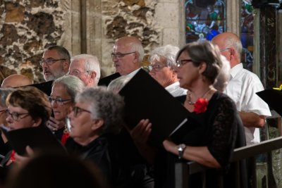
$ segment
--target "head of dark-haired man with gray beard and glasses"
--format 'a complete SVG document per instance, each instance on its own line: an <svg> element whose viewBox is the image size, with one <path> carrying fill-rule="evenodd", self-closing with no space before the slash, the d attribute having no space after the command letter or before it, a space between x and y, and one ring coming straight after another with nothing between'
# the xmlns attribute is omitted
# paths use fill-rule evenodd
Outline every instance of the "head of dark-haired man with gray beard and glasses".
<svg viewBox="0 0 282 188"><path fill-rule="evenodd" d="M42 65L44 80L56 80L68 73L71 56L63 46L50 46L43 54Z"/></svg>

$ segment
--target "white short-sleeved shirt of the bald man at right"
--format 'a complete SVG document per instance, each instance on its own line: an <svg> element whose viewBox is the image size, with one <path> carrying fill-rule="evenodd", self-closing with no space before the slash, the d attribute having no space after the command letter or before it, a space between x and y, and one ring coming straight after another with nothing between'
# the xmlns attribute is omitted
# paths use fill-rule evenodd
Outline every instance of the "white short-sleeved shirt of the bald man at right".
<svg viewBox="0 0 282 188"><path fill-rule="evenodd" d="M238 111L271 116L269 106L256 94L264 90L262 82L254 73L240 63L231 68L231 80L224 91L235 102ZM244 127L247 145L260 142L259 128Z"/></svg>

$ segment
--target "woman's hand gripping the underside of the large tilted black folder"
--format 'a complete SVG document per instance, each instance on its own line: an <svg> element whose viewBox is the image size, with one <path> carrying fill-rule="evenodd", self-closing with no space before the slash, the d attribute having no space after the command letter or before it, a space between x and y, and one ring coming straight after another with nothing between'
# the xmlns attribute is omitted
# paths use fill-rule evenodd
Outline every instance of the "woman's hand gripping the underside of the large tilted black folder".
<svg viewBox="0 0 282 188"><path fill-rule="evenodd" d="M148 119L140 120L140 122L130 130L130 135L136 144L146 144L149 134L152 132L152 123Z"/></svg>

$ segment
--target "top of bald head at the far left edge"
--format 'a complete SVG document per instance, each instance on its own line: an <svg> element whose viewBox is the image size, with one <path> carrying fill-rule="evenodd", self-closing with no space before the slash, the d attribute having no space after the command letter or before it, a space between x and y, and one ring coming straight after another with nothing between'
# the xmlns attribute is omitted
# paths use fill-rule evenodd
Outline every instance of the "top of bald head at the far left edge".
<svg viewBox="0 0 282 188"><path fill-rule="evenodd" d="M32 81L24 75L9 75L3 80L1 88L21 87L29 84L32 84Z"/></svg>

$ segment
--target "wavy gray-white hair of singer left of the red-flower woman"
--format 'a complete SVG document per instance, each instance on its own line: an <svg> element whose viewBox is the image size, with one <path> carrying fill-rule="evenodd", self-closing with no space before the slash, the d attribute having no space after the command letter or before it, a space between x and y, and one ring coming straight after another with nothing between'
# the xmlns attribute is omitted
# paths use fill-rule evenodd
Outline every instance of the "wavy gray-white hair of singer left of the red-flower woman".
<svg viewBox="0 0 282 188"><path fill-rule="evenodd" d="M168 65L168 67L172 67L173 65L176 65L176 54L178 51L179 48L177 46L172 46L171 44L160 46L152 51L149 56L149 62L152 63L154 59L164 57L166 58L166 65Z"/></svg>

